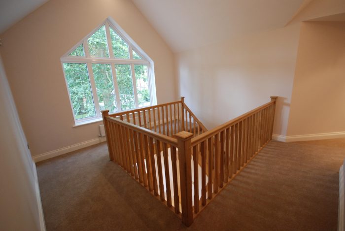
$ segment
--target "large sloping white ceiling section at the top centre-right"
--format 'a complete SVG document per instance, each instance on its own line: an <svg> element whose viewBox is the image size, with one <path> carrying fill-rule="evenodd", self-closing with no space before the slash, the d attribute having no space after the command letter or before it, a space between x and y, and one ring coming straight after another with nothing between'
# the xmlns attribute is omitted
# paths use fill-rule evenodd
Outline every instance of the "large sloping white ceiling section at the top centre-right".
<svg viewBox="0 0 345 231"><path fill-rule="evenodd" d="M173 52L283 27L304 0L132 0Z"/></svg>

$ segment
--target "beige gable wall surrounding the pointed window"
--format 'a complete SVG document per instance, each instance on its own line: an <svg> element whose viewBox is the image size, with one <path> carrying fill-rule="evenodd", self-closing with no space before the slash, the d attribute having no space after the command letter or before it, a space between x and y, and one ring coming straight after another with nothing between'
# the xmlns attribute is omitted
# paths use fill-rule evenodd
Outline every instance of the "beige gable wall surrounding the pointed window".
<svg viewBox="0 0 345 231"><path fill-rule="evenodd" d="M98 137L73 128L60 57L108 16L154 61L157 102L176 99L173 53L130 0L50 0L0 35L5 69L33 155Z"/></svg>

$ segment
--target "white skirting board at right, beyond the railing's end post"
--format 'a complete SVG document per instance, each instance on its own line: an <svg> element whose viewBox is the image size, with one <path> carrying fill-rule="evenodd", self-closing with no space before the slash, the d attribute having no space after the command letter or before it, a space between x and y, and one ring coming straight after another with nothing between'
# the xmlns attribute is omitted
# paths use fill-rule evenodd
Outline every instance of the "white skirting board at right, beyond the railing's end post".
<svg viewBox="0 0 345 231"><path fill-rule="evenodd" d="M336 139L345 138L345 132L329 132L319 134L307 134L307 135L278 135L273 134L272 139L282 142L296 142L296 141L308 141L319 139Z"/></svg>

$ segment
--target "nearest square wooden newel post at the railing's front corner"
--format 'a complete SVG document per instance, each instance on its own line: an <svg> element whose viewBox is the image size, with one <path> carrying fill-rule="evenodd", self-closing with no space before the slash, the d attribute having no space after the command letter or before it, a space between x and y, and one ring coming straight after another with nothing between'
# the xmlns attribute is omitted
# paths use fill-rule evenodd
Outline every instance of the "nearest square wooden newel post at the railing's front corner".
<svg viewBox="0 0 345 231"><path fill-rule="evenodd" d="M192 147L193 133L178 132L175 134L178 144L180 167L182 222L189 227L193 223L192 197Z"/></svg>

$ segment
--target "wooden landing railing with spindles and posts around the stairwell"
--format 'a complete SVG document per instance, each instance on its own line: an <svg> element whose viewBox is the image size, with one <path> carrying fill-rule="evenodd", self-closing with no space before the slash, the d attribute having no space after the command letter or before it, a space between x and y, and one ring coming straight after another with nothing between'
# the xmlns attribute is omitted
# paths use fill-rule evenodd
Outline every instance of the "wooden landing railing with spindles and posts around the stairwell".
<svg viewBox="0 0 345 231"><path fill-rule="evenodd" d="M186 106L184 98L111 115L104 110L109 158L190 226L272 139L275 107L276 97L271 97L270 102L210 131Z"/></svg>

